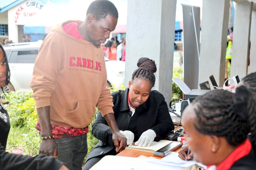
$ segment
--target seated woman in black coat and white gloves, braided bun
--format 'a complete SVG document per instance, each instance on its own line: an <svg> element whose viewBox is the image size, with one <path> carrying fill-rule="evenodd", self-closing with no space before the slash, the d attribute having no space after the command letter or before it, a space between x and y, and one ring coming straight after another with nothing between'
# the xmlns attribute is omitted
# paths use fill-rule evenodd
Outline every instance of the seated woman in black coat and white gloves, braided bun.
<svg viewBox="0 0 256 170"><path fill-rule="evenodd" d="M113 110L120 132L127 145L150 146L174 129L164 96L152 90L155 84L156 64L148 58L140 58L125 90L113 92ZM99 143L89 152L83 170L90 169L105 155L116 155L112 133L105 118L99 112L92 125L92 134Z"/></svg>

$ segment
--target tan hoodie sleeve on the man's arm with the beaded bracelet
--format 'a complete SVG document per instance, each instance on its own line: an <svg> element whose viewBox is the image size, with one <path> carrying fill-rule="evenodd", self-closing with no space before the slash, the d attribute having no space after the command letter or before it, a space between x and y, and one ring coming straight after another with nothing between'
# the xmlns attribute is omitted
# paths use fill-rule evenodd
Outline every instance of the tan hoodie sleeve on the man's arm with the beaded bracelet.
<svg viewBox="0 0 256 170"><path fill-rule="evenodd" d="M55 79L62 67L61 51L58 42L51 38L55 33L47 36L39 48L30 87L36 100L36 108L50 106L50 97L55 91Z"/></svg>

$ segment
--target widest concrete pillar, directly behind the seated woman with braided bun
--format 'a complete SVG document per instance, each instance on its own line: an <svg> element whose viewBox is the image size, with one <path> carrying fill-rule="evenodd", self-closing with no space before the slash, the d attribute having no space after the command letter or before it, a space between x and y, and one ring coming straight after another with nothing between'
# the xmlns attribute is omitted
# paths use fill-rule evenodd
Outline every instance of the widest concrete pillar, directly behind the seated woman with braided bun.
<svg viewBox="0 0 256 170"><path fill-rule="evenodd" d="M167 103L172 98L173 44L176 0L128 0L125 56L125 87L137 69L138 59L155 60L154 90Z"/></svg>

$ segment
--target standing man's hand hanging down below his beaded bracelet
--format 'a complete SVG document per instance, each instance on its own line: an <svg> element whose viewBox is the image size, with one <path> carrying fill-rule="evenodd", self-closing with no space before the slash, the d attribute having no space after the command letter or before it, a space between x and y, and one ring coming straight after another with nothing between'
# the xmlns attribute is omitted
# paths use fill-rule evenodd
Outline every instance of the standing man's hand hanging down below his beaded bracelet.
<svg viewBox="0 0 256 170"><path fill-rule="evenodd" d="M41 140L39 154L57 158L58 147L54 139Z"/></svg>

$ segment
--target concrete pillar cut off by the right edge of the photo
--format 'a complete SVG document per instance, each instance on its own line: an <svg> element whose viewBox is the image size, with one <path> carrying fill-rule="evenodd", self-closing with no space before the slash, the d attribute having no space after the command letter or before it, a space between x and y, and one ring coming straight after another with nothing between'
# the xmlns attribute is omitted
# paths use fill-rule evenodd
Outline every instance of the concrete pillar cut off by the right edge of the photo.
<svg viewBox="0 0 256 170"><path fill-rule="evenodd" d="M250 65L248 66L248 74L256 71L256 11L252 11L250 41Z"/></svg>

